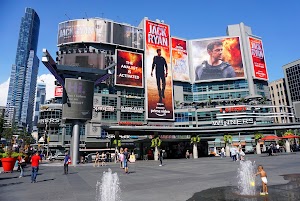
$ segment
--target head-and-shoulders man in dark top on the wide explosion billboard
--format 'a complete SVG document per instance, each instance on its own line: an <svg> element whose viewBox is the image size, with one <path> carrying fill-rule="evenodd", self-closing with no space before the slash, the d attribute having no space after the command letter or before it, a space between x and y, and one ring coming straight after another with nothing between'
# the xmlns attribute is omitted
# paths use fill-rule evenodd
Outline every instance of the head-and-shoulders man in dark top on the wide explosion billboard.
<svg viewBox="0 0 300 201"><path fill-rule="evenodd" d="M207 45L209 60L203 61L195 70L195 81L236 77L233 67L222 61L222 41L213 41Z"/></svg>

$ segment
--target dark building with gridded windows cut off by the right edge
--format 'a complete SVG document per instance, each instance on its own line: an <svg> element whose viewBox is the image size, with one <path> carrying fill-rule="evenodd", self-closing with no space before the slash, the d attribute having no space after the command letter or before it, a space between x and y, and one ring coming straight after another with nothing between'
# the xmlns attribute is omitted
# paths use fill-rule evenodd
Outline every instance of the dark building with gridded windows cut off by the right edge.
<svg viewBox="0 0 300 201"><path fill-rule="evenodd" d="M295 104L300 101L300 60L296 60L284 65L283 71L289 103L294 107L295 110ZM299 122L300 117L298 116L297 118L294 118L294 121Z"/></svg>

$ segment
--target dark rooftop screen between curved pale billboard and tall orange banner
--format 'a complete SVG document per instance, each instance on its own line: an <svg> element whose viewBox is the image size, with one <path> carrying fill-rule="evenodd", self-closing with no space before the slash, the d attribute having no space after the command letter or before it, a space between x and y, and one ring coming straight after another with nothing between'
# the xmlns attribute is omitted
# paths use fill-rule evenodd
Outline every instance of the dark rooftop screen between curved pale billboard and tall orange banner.
<svg viewBox="0 0 300 201"><path fill-rule="evenodd" d="M113 43L143 49L143 30L126 24L113 24Z"/></svg>

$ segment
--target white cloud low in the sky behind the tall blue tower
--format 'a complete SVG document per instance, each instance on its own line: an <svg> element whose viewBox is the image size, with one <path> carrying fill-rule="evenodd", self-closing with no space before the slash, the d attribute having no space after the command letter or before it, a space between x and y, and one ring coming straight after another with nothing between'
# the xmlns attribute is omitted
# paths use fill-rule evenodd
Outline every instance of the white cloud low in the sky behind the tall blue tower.
<svg viewBox="0 0 300 201"><path fill-rule="evenodd" d="M6 106L8 87L9 87L9 78L7 81L0 84L1 96L0 96L0 106ZM43 74L38 76L37 82L42 82L46 84L46 100L49 100L54 97L54 81L55 78L52 74Z"/></svg>

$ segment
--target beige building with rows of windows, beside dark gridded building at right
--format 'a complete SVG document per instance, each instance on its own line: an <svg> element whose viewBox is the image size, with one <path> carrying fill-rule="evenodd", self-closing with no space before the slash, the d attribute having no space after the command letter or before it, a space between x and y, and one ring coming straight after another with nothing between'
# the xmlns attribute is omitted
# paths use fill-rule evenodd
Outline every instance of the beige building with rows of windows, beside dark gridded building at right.
<svg viewBox="0 0 300 201"><path fill-rule="evenodd" d="M287 90L285 85L285 79L281 78L269 83L271 101L273 105L273 112L279 114L275 117L275 123L290 123L293 121L292 115L286 115L292 113L291 105L287 96Z"/></svg>

